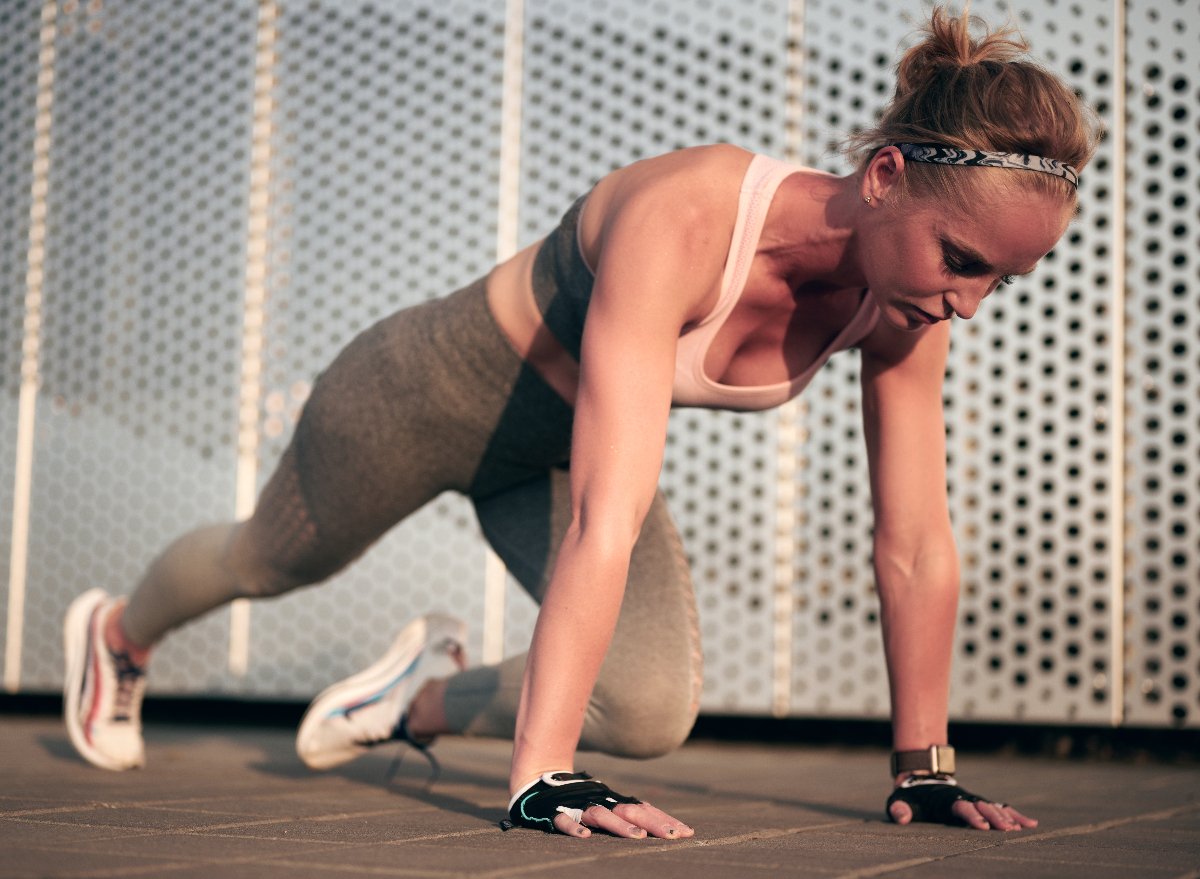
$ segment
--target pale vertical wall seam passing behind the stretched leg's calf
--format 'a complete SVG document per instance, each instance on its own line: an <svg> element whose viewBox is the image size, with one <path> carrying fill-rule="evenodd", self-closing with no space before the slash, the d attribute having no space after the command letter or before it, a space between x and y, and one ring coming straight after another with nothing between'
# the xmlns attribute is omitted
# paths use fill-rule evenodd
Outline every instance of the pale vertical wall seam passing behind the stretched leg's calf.
<svg viewBox="0 0 1200 879"><path fill-rule="evenodd" d="M266 253L270 225L271 112L275 101L275 19L272 0L258 6L254 53L254 107L250 162L250 221L246 240L246 297L241 331L241 390L238 407L238 482L234 516L254 512L258 489L258 419L263 383L263 319L266 304ZM242 676L250 666L250 602L229 609L229 671Z"/></svg>

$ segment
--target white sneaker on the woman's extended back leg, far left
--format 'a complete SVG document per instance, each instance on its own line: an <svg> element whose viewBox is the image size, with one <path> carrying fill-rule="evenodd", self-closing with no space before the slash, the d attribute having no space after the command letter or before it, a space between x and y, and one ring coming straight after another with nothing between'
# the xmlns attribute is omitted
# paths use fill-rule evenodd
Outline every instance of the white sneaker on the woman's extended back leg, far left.
<svg viewBox="0 0 1200 879"><path fill-rule="evenodd" d="M71 603L62 623L67 670L62 683L62 717L76 751L101 769L144 766L142 696L145 670L104 644L104 622L124 599L101 588Z"/></svg>

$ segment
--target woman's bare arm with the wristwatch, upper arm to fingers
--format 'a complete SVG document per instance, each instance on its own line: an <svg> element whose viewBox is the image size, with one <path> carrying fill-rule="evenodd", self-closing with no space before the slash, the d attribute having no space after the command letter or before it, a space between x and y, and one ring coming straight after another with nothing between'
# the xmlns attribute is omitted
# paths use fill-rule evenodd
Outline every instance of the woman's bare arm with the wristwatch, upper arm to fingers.
<svg viewBox="0 0 1200 879"><path fill-rule="evenodd" d="M881 327L863 351L863 424L875 507L875 579L892 694L893 747L947 742L959 560L946 495L942 379L949 323L919 333ZM896 784L910 773L901 773ZM960 800L964 823L986 830L1037 826L1010 807ZM908 802L889 807L899 824Z"/></svg>

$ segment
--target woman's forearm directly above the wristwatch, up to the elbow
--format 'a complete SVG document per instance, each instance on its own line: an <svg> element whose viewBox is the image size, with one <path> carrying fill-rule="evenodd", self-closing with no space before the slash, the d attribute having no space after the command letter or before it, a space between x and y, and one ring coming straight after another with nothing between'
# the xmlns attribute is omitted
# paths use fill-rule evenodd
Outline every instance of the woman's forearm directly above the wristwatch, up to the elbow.
<svg viewBox="0 0 1200 879"><path fill-rule="evenodd" d="M959 566L953 539L936 543L911 566L893 563L876 548L896 751L947 743Z"/></svg>

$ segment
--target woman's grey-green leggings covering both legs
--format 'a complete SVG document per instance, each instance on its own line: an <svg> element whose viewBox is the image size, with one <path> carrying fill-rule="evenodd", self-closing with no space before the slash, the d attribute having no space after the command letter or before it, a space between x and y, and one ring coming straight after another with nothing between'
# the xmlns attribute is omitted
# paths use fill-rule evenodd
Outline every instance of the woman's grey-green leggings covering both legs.
<svg viewBox="0 0 1200 879"><path fill-rule="evenodd" d="M234 598L324 580L450 489L473 500L485 537L540 603L570 524L572 418L496 325L484 280L397 312L318 378L254 515L192 532L155 561L125 612L126 633L150 645ZM511 737L524 660L451 678L451 726ZM701 686L688 562L659 492L581 747L626 757L671 751L691 729Z"/></svg>

